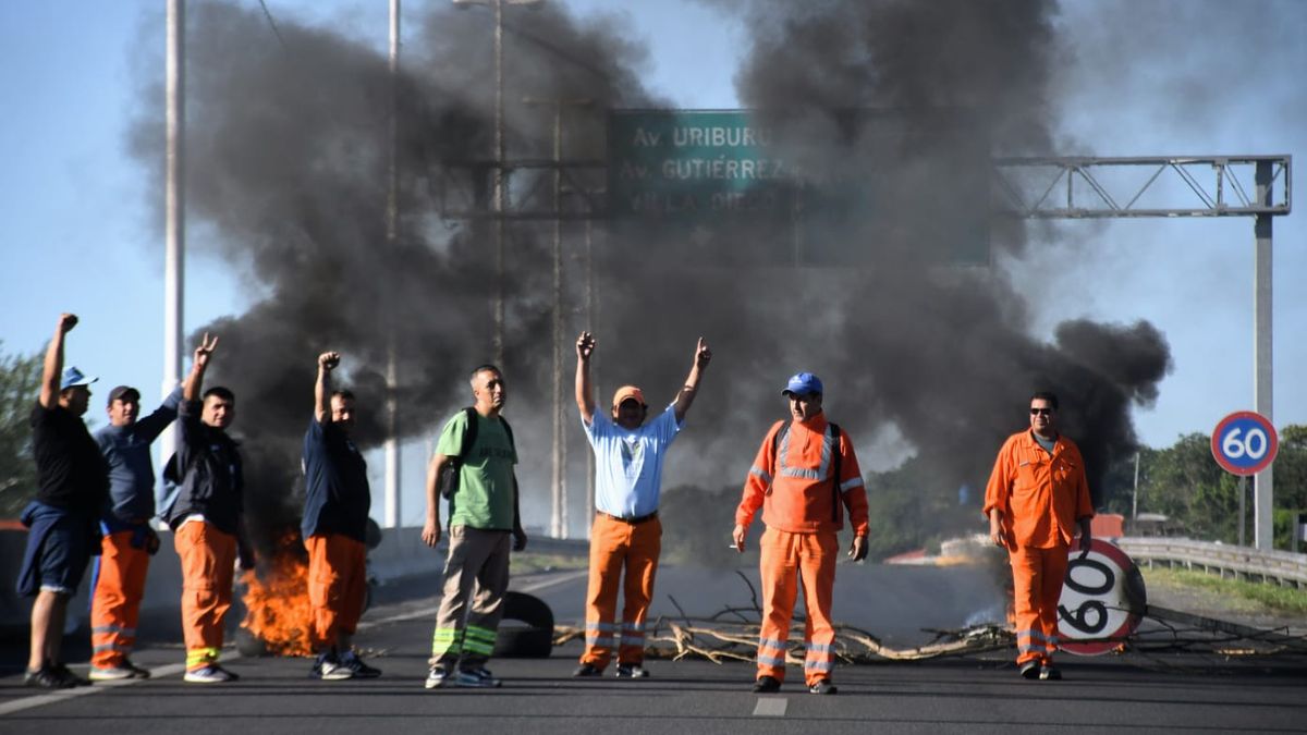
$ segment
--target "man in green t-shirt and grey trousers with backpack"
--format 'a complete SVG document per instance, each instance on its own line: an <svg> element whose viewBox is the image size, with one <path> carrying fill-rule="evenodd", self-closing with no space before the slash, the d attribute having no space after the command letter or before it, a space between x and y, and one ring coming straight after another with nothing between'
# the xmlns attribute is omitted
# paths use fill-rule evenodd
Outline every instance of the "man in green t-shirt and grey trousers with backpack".
<svg viewBox="0 0 1307 735"><path fill-rule="evenodd" d="M431 672L426 688L444 685L498 687L485 667L494 651L508 589L508 547L527 547L518 513L518 483L512 466L518 451L512 432L499 417L505 400L503 374L494 365L472 371L474 411L460 411L444 424L426 473L426 524L422 543L440 541L440 490L450 493L450 556L444 562L444 592L431 637ZM464 439L476 421L473 441ZM465 454L465 456L464 456ZM452 468L452 475L446 470ZM447 477L451 475L451 477Z"/></svg>

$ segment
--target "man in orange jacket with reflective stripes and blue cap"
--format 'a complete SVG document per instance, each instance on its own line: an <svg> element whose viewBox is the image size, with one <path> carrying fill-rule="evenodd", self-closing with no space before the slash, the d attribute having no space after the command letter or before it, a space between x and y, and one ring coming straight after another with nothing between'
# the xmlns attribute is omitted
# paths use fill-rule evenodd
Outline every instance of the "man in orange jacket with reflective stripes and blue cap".
<svg viewBox="0 0 1307 735"><path fill-rule="evenodd" d="M822 412L821 379L799 373L782 395L789 399L791 421L776 421L762 439L732 532L736 549L742 552L749 523L762 507L767 530L759 541L762 630L753 691L776 692L786 679L789 620L801 581L808 611L804 680L813 694L834 694L835 626L830 604L839 556L836 535L844 527L847 507L853 527L848 556L853 561L867 558L867 489L852 439Z"/></svg>

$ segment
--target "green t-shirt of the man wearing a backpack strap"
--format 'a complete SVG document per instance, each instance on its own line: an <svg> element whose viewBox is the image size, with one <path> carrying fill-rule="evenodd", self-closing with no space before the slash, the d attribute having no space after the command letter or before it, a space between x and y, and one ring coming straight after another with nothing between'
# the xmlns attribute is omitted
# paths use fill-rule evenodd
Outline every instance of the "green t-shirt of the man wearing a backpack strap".
<svg viewBox="0 0 1307 735"><path fill-rule="evenodd" d="M477 439L463 460L459 489L450 496L450 526L468 526L482 531L512 530L512 466L518 453L499 417L486 419L474 413ZM468 415L463 411L444 424L435 453L459 456Z"/></svg>

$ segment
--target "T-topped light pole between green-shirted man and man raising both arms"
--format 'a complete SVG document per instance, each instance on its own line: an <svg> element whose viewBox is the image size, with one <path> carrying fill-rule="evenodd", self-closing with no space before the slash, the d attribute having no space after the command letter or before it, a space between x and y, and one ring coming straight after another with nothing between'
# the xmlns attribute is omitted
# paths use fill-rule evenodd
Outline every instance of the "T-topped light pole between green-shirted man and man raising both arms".
<svg viewBox="0 0 1307 735"><path fill-rule="evenodd" d="M554 109L554 191L553 191L553 255L554 255L554 314L553 314L553 475L550 480L552 509L549 531L555 539L569 536L567 521L567 434L563 432L563 251L562 251L562 191L563 191L563 107L586 107L588 98L538 99L524 97L525 105L544 105Z"/></svg>

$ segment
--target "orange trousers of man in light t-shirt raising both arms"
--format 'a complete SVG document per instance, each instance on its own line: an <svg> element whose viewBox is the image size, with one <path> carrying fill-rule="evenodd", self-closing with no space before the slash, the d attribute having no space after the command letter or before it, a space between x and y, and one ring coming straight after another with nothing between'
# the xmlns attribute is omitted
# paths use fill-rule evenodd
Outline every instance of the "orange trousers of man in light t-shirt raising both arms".
<svg viewBox="0 0 1307 735"><path fill-rule="evenodd" d="M603 670L613 660L637 666L644 660L644 619L654 599L654 574L663 552L663 523L655 515L640 523L595 514L589 528L589 585L586 590L586 651L582 663ZM622 625L616 625L617 587L626 569Z"/></svg>

